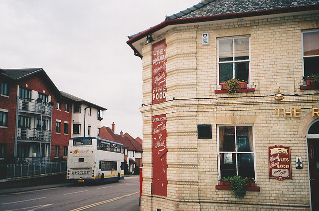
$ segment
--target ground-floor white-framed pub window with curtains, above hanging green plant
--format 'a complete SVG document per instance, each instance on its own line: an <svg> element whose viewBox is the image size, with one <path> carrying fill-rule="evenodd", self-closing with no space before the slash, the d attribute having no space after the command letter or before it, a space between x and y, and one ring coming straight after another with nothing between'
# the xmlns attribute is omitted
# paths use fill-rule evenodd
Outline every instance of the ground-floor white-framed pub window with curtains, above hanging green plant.
<svg viewBox="0 0 319 211"><path fill-rule="evenodd" d="M239 175L244 178L256 178L254 149L252 126L219 126L219 177Z"/></svg>

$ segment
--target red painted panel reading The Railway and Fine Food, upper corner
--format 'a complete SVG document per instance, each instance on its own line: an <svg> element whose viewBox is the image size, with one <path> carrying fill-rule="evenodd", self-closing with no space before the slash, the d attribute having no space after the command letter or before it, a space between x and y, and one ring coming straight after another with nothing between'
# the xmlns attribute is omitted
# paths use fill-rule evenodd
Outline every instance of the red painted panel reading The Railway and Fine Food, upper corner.
<svg viewBox="0 0 319 211"><path fill-rule="evenodd" d="M166 42L153 45L152 104L166 101Z"/></svg>

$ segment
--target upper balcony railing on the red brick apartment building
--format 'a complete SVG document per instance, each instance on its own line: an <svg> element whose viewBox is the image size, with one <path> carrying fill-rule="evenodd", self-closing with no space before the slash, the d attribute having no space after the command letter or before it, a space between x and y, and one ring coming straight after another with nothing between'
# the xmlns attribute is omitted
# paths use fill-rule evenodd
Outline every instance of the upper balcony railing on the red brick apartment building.
<svg viewBox="0 0 319 211"><path fill-rule="evenodd" d="M52 104L42 103L31 99L19 99L18 108L22 111L32 111L43 115L52 116Z"/></svg>

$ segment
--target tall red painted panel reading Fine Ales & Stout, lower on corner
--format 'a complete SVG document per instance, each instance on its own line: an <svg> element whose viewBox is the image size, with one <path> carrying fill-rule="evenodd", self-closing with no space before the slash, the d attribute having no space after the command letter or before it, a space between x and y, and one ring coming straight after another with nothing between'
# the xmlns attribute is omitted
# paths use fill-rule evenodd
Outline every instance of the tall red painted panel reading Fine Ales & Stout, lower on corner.
<svg viewBox="0 0 319 211"><path fill-rule="evenodd" d="M153 116L153 194L167 196L166 114Z"/></svg>

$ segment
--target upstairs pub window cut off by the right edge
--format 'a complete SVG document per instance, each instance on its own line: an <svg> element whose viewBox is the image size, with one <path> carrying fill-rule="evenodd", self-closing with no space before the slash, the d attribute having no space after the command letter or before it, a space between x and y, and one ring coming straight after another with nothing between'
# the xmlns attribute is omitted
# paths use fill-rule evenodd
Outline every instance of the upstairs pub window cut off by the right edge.
<svg viewBox="0 0 319 211"><path fill-rule="evenodd" d="M319 31L303 32L304 76L319 74Z"/></svg>

